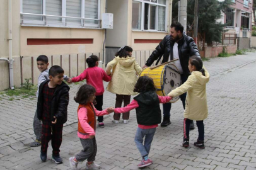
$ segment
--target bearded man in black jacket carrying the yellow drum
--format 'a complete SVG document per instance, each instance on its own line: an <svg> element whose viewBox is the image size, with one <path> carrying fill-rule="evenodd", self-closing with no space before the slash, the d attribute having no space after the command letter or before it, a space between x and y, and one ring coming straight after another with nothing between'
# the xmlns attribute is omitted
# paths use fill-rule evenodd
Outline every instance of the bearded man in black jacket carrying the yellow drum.
<svg viewBox="0 0 256 170"><path fill-rule="evenodd" d="M173 22L171 25L170 35L166 35L165 38L163 38L156 47L156 50L152 52L143 68L149 67L153 64L154 60L158 60L156 62L157 65L162 56L162 63L178 59L177 61L172 62L172 64L178 68L178 71L181 74L182 84L187 81L187 78L189 77L189 57L192 55L200 57L200 54L193 38L183 34L183 30L184 28L179 22ZM186 95L187 93L180 96L184 109ZM172 103L163 104L163 122L161 123L161 127L166 127L171 124L171 106ZM190 129L194 128L194 123L192 122Z"/></svg>

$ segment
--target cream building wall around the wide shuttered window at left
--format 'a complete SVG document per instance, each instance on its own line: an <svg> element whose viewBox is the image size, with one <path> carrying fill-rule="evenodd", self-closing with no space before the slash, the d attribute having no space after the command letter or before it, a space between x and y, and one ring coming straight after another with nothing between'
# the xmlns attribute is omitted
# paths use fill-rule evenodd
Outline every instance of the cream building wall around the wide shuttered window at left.
<svg viewBox="0 0 256 170"><path fill-rule="evenodd" d="M37 69L37 56L45 54L50 65L61 65L67 76L77 76L86 66L85 59L96 54L102 60L104 30L85 28L52 28L37 26L20 26L20 1L12 1L13 24L13 72L16 88L32 78L37 84L40 72ZM101 14L105 13L105 0L101 1ZM102 17L102 15L101 15ZM93 38L91 44L68 45L27 45L28 38ZM8 57L8 0L0 5L0 57ZM101 65L100 65L101 66ZM104 65L103 65L104 67ZM0 91L9 88L9 65L0 61Z"/></svg>

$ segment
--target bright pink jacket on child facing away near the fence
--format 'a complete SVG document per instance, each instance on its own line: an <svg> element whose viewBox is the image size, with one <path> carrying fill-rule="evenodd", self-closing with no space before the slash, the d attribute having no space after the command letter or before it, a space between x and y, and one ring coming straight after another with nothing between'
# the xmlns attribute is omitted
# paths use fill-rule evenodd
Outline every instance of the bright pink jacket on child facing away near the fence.
<svg viewBox="0 0 256 170"><path fill-rule="evenodd" d="M103 81L110 81L111 77L100 67L89 67L85 69L79 76L73 77L73 82L79 82L86 79L87 84L91 84L96 89L96 96L104 93ZM103 80L103 81L102 81Z"/></svg>

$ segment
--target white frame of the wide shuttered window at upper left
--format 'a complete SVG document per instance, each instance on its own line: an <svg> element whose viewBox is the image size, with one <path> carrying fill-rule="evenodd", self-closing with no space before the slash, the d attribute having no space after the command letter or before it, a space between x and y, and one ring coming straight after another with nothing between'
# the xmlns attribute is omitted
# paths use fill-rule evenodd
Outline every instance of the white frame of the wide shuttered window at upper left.
<svg viewBox="0 0 256 170"><path fill-rule="evenodd" d="M84 18L84 0L81 0L81 17L69 17L67 16L67 1L62 0L62 16L54 16L54 17L59 17L62 18L62 22L59 24L50 24L54 21L47 21L46 18L47 16L53 16L53 15L47 15L45 14L45 6L46 6L46 0L42 0L42 8L43 8L43 14L31 14L31 15L36 15L36 16L42 16L43 20L42 21L32 21L32 20L23 20L23 0L20 0L20 14L21 14L21 25L22 26L47 26L47 27L64 27L64 28L93 28L93 29L102 29L100 28L100 14L101 14L101 0L98 0L98 18L97 19L91 19L91 18ZM81 19L81 24L78 23L78 25L68 25L66 23L66 18L76 18L76 19ZM96 20L98 21L98 24L88 24L84 23L85 20Z"/></svg>

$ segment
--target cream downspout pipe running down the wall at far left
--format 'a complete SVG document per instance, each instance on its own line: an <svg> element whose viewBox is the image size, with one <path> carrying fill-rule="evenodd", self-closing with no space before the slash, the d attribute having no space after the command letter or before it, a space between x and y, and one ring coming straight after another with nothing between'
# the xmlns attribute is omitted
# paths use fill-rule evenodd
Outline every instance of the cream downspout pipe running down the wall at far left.
<svg viewBox="0 0 256 170"><path fill-rule="evenodd" d="M8 42L9 42L9 81L10 81L10 88L15 89L13 84L13 26L12 26L12 9L11 9L12 2L8 0Z"/></svg>

